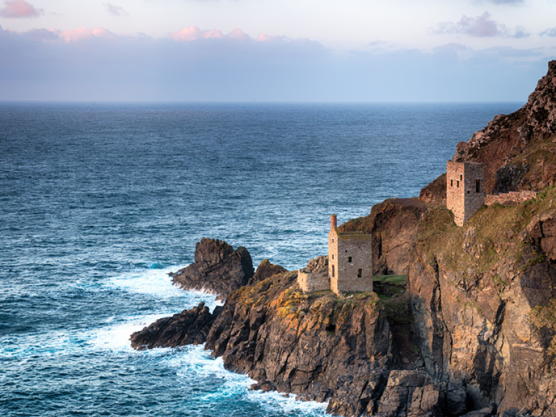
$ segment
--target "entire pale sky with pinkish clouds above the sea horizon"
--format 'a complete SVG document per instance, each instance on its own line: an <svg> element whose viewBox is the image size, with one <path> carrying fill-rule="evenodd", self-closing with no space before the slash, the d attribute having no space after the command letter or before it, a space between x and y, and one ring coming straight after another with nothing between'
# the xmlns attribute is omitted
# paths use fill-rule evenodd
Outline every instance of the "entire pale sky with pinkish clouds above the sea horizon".
<svg viewBox="0 0 556 417"><path fill-rule="evenodd" d="M526 101L556 0L0 0L0 101Z"/></svg>

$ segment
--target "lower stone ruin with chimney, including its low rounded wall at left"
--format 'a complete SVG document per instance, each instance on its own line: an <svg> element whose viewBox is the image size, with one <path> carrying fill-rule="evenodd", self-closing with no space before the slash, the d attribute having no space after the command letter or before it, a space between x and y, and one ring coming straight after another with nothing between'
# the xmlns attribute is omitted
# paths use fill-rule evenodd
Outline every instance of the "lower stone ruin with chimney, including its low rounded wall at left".
<svg viewBox="0 0 556 417"><path fill-rule="evenodd" d="M336 294L373 291L372 235L338 232L336 215L330 216L328 268L301 269L297 282L304 292L332 290ZM322 257L321 257L322 258Z"/></svg>

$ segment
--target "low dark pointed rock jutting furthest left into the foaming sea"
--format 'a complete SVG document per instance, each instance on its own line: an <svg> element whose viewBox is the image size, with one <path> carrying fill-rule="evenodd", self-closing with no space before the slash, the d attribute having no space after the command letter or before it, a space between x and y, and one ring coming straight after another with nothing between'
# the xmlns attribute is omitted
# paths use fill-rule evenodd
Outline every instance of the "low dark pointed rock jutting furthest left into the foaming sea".
<svg viewBox="0 0 556 417"><path fill-rule="evenodd" d="M131 334L131 347L144 350L204 343L208 330L221 310L222 307L217 306L210 313L204 302L200 302L193 309L156 320L152 325Z"/></svg>

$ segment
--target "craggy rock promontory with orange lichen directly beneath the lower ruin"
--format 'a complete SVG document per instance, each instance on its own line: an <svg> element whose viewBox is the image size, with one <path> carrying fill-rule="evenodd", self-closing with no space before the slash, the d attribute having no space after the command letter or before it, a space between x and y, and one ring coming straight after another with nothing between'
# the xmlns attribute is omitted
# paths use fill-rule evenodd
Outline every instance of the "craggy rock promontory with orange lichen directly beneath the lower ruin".
<svg viewBox="0 0 556 417"><path fill-rule="evenodd" d="M382 392L391 360L378 299L304 294L293 289L295 279L295 272L275 275L231 295L206 347L227 369L306 400L329 400L333 414L359 415Z"/></svg>

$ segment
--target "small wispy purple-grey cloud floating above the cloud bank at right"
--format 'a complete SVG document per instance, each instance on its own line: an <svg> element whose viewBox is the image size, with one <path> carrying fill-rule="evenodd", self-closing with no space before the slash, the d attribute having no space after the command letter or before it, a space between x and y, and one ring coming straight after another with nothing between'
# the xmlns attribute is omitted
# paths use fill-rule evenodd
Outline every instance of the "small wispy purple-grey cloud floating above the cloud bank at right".
<svg viewBox="0 0 556 417"><path fill-rule="evenodd" d="M488 12L477 17L463 16L458 22L441 22L433 28L433 33L461 33L477 38L503 36L505 38L527 38L530 33L523 26L516 26L510 31L505 24L491 19Z"/></svg>

